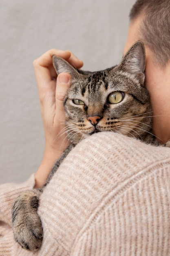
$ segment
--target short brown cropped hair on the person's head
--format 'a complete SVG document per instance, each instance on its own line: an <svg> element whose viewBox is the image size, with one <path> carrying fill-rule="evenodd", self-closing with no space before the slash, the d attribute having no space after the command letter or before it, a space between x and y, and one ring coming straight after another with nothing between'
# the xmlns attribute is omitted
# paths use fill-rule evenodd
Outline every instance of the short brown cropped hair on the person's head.
<svg viewBox="0 0 170 256"><path fill-rule="evenodd" d="M165 67L170 60L170 0L137 0L130 21L140 15L140 39L152 50L156 63Z"/></svg>

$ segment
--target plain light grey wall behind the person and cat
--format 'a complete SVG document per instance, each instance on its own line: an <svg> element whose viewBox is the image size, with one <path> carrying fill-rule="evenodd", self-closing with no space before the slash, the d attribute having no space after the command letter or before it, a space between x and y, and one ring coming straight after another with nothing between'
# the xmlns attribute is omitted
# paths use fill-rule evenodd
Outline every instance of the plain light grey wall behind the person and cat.
<svg viewBox="0 0 170 256"><path fill-rule="evenodd" d="M71 50L84 70L121 60L135 0L0 0L0 183L23 182L43 156L33 60Z"/></svg>

